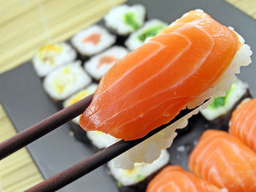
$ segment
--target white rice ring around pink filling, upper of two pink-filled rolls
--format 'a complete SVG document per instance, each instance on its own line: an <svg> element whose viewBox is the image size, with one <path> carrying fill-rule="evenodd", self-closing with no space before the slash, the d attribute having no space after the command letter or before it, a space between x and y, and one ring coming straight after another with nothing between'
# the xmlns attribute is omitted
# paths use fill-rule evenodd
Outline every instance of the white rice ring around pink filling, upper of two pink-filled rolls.
<svg viewBox="0 0 256 192"><path fill-rule="evenodd" d="M90 41L83 42L84 39L90 37L93 34L99 34L99 42L96 44ZM72 37L71 42L80 54L91 56L113 45L113 43L116 42L116 36L110 34L102 26L95 25L75 34L75 36Z"/></svg>

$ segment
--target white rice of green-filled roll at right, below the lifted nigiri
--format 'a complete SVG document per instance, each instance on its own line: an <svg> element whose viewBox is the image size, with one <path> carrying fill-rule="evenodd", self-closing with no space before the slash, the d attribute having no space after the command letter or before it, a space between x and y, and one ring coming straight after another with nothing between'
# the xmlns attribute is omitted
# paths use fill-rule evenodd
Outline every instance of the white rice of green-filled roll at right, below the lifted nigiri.
<svg viewBox="0 0 256 192"><path fill-rule="evenodd" d="M244 96L248 87L249 86L245 82L242 82L236 78L236 80L233 82L232 90L230 90L230 93L228 93L227 98L225 99L224 106L217 108L211 108L208 106L205 110L200 109L200 112L208 120L214 120L220 115L226 114L233 108L234 104L236 104L236 102L241 99L242 96Z"/></svg>

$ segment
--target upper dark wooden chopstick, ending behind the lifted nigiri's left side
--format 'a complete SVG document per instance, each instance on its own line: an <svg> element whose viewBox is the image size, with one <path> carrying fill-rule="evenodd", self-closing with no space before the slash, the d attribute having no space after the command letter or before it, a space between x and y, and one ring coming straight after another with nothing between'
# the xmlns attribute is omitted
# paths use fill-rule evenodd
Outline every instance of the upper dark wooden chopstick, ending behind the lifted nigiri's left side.
<svg viewBox="0 0 256 192"><path fill-rule="evenodd" d="M92 97L93 94L1 142L0 160L82 114L91 103Z"/></svg>

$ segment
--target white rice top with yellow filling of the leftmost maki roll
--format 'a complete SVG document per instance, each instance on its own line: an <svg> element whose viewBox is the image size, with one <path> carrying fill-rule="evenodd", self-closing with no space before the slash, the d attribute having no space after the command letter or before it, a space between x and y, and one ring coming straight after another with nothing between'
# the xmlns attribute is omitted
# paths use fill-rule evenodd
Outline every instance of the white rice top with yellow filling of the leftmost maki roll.
<svg viewBox="0 0 256 192"><path fill-rule="evenodd" d="M39 77L44 77L58 66L74 61L77 54L75 50L65 42L49 44L37 50L32 61Z"/></svg>

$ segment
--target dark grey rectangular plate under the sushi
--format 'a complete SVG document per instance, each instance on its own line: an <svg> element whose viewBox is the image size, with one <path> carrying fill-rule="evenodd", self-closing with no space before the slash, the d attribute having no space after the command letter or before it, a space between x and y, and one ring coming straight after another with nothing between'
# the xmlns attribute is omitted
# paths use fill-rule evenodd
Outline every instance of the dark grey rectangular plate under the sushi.
<svg viewBox="0 0 256 192"><path fill-rule="evenodd" d="M140 3L146 6L148 18L159 18L167 23L180 18L184 12L191 9L203 9L212 18L226 26L233 28L241 34L252 50L256 50L256 21L240 12L235 7L222 0L140 0L129 1L129 4ZM255 55L252 55L252 64L241 69L238 77L249 83L253 96L256 96L256 66ZM0 101L4 105L13 125L18 131L37 123L56 112L53 101L42 89L37 74L30 62L0 75ZM195 142L202 132L209 128L208 123L200 115L189 121L192 130L178 137L170 148L171 161L187 167L187 158ZM184 145L185 151L178 152L176 148ZM39 170L45 178L52 176L89 157L94 151L69 136L67 125L48 134L37 142L28 146ZM67 185L60 191L118 191L116 183L105 172L105 167L91 172L74 183Z"/></svg>

